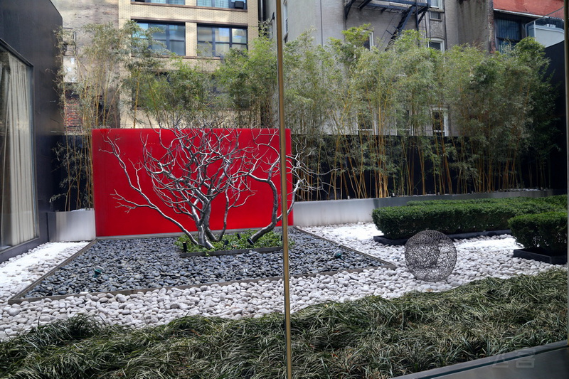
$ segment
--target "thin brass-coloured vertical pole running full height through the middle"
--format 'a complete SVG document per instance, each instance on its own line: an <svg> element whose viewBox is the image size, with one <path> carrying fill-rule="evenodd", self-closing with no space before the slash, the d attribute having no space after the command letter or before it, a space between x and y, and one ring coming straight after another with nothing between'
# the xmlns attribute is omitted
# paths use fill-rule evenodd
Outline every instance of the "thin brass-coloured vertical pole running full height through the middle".
<svg viewBox="0 0 569 379"><path fill-rule="evenodd" d="M292 378L292 347L290 337L290 289L289 289L289 220L287 188L287 141L285 136L285 84L282 73L282 6L277 1L277 78L279 90L280 137L280 203L282 214L282 282L285 285L285 333L287 343L287 379Z"/></svg>

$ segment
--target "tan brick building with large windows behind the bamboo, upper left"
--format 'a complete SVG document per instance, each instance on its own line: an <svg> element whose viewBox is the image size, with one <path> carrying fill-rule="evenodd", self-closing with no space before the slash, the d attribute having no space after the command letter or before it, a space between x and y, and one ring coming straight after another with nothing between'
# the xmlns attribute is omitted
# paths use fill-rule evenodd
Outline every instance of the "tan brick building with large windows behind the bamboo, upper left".
<svg viewBox="0 0 569 379"><path fill-rule="evenodd" d="M119 27L136 21L142 28L152 28L154 39L184 60L206 63L214 68L230 48L246 50L259 33L258 1L247 0L52 0L63 17L63 28L73 36L80 50L91 41L82 34L90 23L110 23ZM158 48L158 46L156 46ZM161 47L160 47L161 48ZM64 56L67 80L73 81L77 62L75 54ZM75 104L78 98L66 94L65 126L80 127ZM110 127L129 127L129 114L117 117ZM138 124L137 127L143 127Z"/></svg>

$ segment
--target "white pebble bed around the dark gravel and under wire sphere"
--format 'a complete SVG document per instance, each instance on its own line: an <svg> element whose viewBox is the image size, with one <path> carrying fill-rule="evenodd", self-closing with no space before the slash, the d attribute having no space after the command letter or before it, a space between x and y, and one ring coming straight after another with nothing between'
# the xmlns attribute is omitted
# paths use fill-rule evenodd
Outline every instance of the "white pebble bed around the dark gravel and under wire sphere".
<svg viewBox="0 0 569 379"><path fill-rule="evenodd" d="M391 247L373 241L374 235L381 234L373 223L303 229L392 262L395 269L365 269L359 273L339 272L331 276L291 278L290 303L293 312L326 301L349 301L372 295L392 299L410 291L445 291L485 277L507 279L518 274L538 274L559 267L512 257L512 250L519 248L519 245L509 235L478 237L454 241L458 257L450 277L441 282L422 282L414 279L405 267L403 246ZM82 294L63 300L43 299L8 304L9 298L85 245L87 242L47 243L0 264L0 340L16 336L33 326L75 314L92 314L110 323L141 327L166 324L186 315L238 319L284 311L282 280L225 286L202 285L191 289L156 289L128 296Z"/></svg>

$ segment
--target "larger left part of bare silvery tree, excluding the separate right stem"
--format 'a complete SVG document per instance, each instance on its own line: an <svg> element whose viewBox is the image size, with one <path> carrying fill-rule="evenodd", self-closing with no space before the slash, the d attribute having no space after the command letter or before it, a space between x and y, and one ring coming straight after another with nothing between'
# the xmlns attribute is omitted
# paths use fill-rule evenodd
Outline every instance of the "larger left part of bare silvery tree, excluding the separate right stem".
<svg viewBox="0 0 569 379"><path fill-rule="evenodd" d="M126 161L118 141L106 137L110 146L107 152L118 159L129 187L142 200L126 198L117 191L114 196L128 210L156 210L188 235L191 242L211 249L211 241L219 241L225 233L230 209L238 208L252 196L247 180L251 169L248 159L254 154L252 146L240 146L237 132L231 129L223 133L208 129L156 129L155 132L159 134L159 145L153 147L148 137L142 139L139 162ZM151 191L158 201L142 186L142 175L149 177ZM223 227L216 236L210 221L213 202L218 198L223 203ZM184 216L196 225L197 240L188 230Z"/></svg>

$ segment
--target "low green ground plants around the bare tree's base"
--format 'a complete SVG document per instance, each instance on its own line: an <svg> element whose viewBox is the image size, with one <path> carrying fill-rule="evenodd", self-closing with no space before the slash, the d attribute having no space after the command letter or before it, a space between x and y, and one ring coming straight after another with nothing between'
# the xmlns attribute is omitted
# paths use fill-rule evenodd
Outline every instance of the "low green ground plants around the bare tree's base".
<svg viewBox="0 0 569 379"><path fill-rule="evenodd" d="M221 250L240 250L240 249L251 249L260 247L275 247L282 245L281 234L275 233L275 231L270 231L255 242L254 245L250 245L248 238L255 233L254 230L247 230L242 233L232 233L223 236L220 242L212 242L213 249L206 250L202 246L193 245L190 238L183 234L174 242L174 245L180 249L183 247L184 242L188 247L188 252L212 252Z"/></svg>

